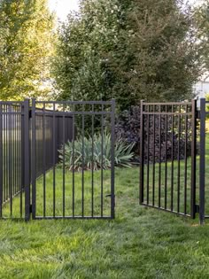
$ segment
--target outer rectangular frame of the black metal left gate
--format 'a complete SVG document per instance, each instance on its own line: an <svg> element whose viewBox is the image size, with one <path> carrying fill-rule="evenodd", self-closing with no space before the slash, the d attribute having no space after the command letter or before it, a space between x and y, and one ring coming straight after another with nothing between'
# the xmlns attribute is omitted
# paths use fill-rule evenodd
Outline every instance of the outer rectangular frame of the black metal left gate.
<svg viewBox="0 0 209 279"><path fill-rule="evenodd" d="M84 112L81 111L79 114L81 115L110 115L111 117L111 194L107 195L106 197L110 197L110 205L111 205L111 213L110 216L104 216L101 214L101 216L36 216L36 147L35 147L35 116L36 116L36 104L61 104L61 105L102 105L102 111L101 112ZM104 105L110 105L111 111L110 112L104 112ZM32 98L32 106L31 106L31 184L32 184L32 204L29 205L28 201L28 195L30 196L30 190L27 192L27 213L26 213L26 220L30 220L30 214L32 213L32 219L33 220L43 220L43 219L102 219L102 220L112 220L115 218L115 173L114 173L114 148L115 148L115 99L112 99L111 101L36 101L35 98ZM52 111L54 113L56 111ZM73 116L76 115L76 112L70 112ZM68 113L69 114L69 113ZM55 114L54 114L55 115ZM103 123L102 123L103 125ZM26 165L26 164L25 164ZM27 165L28 166L28 165ZM104 177L102 176L102 179ZM29 206L28 206L29 205ZM29 210L28 210L29 208Z"/></svg>

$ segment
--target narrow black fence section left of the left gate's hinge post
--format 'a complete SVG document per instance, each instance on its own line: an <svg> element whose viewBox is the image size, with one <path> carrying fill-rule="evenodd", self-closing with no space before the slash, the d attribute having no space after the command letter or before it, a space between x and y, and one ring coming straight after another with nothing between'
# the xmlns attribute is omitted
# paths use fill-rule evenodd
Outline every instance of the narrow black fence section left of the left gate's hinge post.
<svg viewBox="0 0 209 279"><path fill-rule="evenodd" d="M24 102L0 102L0 217L24 218Z"/></svg>

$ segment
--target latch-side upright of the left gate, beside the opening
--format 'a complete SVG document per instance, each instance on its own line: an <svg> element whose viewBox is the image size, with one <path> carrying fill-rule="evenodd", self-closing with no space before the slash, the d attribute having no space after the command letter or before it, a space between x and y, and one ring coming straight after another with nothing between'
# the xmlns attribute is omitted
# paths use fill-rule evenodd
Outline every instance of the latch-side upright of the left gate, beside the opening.
<svg viewBox="0 0 209 279"><path fill-rule="evenodd" d="M114 145L115 145L115 100L112 99L111 107L111 217L114 219L115 196L114 196Z"/></svg>

